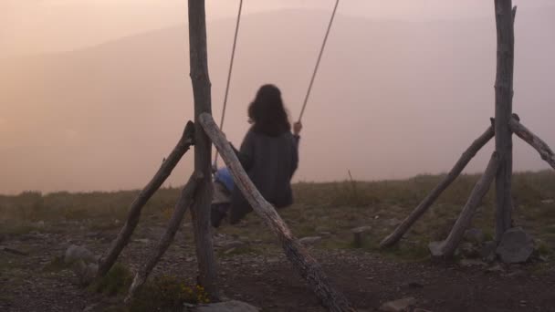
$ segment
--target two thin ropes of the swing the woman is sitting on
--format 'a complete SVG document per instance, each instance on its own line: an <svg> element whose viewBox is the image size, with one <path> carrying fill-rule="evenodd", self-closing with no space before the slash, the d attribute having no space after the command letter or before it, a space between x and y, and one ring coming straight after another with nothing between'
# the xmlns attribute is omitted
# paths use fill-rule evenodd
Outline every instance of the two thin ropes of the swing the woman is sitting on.
<svg viewBox="0 0 555 312"><path fill-rule="evenodd" d="M312 77L310 78L309 88L307 90L307 94L305 95L305 99L302 104L302 108L300 109L300 113L298 115L298 122L302 120L302 116L304 115L305 109L307 108L307 103L309 102L310 91L312 90L312 85L314 84L314 78L316 78L316 73L318 72L319 62L322 58L324 47L326 47L326 42L328 41L328 36L330 35L331 25L333 24L333 19L335 18L335 14L337 12L337 7L340 4L340 0L335 1L335 5L333 6L333 12L331 13L330 23L328 24L328 29L326 30L326 35L324 36L324 40L322 42L322 46L319 49L318 59L316 61L316 66L314 67L314 71L312 72ZM236 33L233 40L233 47L231 50L231 60L229 62L229 70L227 72L227 83L225 84L225 95L224 95L224 105L222 109L222 117L220 119L220 130L224 130L224 120L225 120L225 109L227 107L227 96L229 94L229 85L231 82L231 74L233 72L233 63L236 56L236 44L237 44L237 35L239 33L239 25L241 23L241 13L243 10L243 0L239 1L239 11L237 13L237 22L236 22ZM217 171L218 168L218 151L215 151L215 158L213 164L213 172Z"/></svg>

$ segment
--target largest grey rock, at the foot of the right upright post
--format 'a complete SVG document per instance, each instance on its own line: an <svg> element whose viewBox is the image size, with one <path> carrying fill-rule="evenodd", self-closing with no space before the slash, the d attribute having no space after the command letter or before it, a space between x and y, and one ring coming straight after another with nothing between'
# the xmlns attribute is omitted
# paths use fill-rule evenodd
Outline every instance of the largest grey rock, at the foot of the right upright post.
<svg viewBox="0 0 555 312"><path fill-rule="evenodd" d="M533 252L534 241L520 227L513 227L505 232L496 250L501 261L507 264L527 262Z"/></svg>

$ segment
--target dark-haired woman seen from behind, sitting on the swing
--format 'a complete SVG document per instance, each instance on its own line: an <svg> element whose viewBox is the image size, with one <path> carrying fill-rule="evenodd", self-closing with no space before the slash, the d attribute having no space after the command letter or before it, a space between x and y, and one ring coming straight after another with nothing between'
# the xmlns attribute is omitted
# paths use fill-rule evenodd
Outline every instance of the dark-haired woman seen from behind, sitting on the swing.
<svg viewBox="0 0 555 312"><path fill-rule="evenodd" d="M274 85L258 89L248 107L248 117L252 126L237 156L262 196L277 208L286 207L293 203L291 178L298 167L298 133L302 124L295 123L291 133L281 92ZM234 188L229 223L238 223L251 211L241 191Z"/></svg>

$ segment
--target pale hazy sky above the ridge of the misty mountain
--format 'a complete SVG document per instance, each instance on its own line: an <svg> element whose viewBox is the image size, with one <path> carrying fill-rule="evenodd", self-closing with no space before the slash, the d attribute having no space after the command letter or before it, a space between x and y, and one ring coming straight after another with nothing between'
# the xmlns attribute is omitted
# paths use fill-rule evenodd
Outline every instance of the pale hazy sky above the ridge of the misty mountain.
<svg viewBox="0 0 555 312"><path fill-rule="evenodd" d="M70 50L150 29L180 25L186 0L1 0L0 57ZM207 0L208 18L233 17L239 1ZM553 0L516 0L534 8ZM245 14L283 8L331 10L333 0L245 0ZM343 0L339 12L383 19L491 16L493 0ZM280 21L276 21L279 23Z"/></svg>

